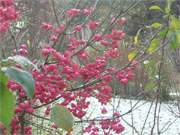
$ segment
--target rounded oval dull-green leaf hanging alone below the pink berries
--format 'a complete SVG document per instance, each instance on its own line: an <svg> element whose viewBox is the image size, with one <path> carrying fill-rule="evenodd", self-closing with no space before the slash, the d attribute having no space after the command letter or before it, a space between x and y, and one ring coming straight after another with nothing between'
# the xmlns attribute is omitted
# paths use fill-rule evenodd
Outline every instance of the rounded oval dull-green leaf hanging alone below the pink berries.
<svg viewBox="0 0 180 135"><path fill-rule="evenodd" d="M66 107L57 104L52 108L51 121L68 132L72 130L74 124L71 112Z"/></svg>

